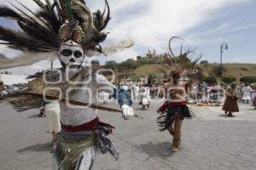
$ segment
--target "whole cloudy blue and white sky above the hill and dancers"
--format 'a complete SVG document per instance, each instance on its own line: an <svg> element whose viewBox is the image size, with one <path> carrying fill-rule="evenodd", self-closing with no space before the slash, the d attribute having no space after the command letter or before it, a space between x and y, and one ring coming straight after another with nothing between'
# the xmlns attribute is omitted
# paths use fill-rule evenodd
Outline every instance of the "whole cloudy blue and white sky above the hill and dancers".
<svg viewBox="0 0 256 170"><path fill-rule="evenodd" d="M32 0L20 0L27 3ZM15 2L15 0L9 0ZM224 63L256 63L256 1L255 0L108 0L111 18L106 32L107 40L102 46L114 44L122 39L135 42L132 48L117 54L96 56L103 64L107 60L117 62L145 56L148 49L155 49L158 54L168 50L171 37L182 37L173 43L178 53L180 44L183 48L196 48L203 59L219 62L222 42L227 42L224 50ZM5 2L3 2L5 3ZM103 0L86 0L91 11L104 8ZM29 3L32 9L35 3ZM15 23L0 19L0 25L15 28ZM15 57L15 51L0 47L1 53ZM58 65L58 61L55 61ZM43 61L29 67L15 68L11 71L19 74L31 74L49 67L49 61Z"/></svg>

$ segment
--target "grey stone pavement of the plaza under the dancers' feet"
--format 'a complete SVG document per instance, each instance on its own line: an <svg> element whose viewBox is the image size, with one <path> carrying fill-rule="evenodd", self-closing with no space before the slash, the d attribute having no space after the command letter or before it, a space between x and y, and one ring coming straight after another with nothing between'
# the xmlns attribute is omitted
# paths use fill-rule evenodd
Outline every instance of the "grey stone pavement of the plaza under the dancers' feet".
<svg viewBox="0 0 256 170"><path fill-rule="evenodd" d="M240 105L236 117L223 116L221 107L193 106L197 118L183 123L182 149L171 152L171 136L160 133L155 113L160 103L148 111L135 105L140 118L124 122L119 114L102 112L102 122L116 129L110 139L120 153L96 157L95 170L255 170L256 111ZM9 105L0 105L0 169L52 169L49 153L50 134L47 118L38 118L38 111L17 113Z"/></svg>

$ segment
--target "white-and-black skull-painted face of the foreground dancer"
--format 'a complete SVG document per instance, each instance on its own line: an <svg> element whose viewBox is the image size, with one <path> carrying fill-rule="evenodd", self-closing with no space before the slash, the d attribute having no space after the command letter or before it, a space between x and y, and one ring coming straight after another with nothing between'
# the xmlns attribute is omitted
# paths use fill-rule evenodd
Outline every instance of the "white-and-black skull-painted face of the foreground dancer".
<svg viewBox="0 0 256 170"><path fill-rule="evenodd" d="M84 51L79 45L61 45L59 51L61 65L71 71L78 71L84 62Z"/></svg>

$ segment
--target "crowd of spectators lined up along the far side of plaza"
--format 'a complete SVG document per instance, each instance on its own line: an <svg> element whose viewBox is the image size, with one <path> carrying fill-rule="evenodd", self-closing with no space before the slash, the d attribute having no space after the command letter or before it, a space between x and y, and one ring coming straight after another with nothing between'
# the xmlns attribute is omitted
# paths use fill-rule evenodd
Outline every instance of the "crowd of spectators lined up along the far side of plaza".
<svg viewBox="0 0 256 170"><path fill-rule="evenodd" d="M185 84L187 92L187 102L189 104L196 105L216 105L221 104L227 90L231 86L234 86L235 82L225 85L219 83L207 83L207 82L188 82ZM166 90L164 88L165 82L161 84L145 84L145 83L134 83L126 85L125 83L116 85L116 88L123 88L131 91L131 99L138 101L139 104L148 104L151 99L163 99L166 98ZM255 92L256 84L249 85L248 83L241 83L240 86L234 88L237 101L249 104L252 102L255 105ZM144 102L143 102L144 101Z"/></svg>

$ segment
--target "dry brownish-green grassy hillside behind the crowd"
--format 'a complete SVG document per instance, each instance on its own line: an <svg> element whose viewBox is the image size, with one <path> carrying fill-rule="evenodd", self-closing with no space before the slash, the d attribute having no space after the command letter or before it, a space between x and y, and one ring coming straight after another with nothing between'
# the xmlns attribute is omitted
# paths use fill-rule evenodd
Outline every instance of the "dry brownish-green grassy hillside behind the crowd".
<svg viewBox="0 0 256 170"><path fill-rule="evenodd" d="M209 76L213 74L213 68L217 67L218 64L208 64L208 65L199 65L203 69L203 73L205 76ZM157 74L156 69L159 68L160 65L143 65L138 67L136 70L132 71L131 75L154 75ZM224 64L225 72L224 76L233 76L236 77L237 80L240 77L247 76L255 76L256 77L256 64Z"/></svg>

